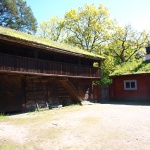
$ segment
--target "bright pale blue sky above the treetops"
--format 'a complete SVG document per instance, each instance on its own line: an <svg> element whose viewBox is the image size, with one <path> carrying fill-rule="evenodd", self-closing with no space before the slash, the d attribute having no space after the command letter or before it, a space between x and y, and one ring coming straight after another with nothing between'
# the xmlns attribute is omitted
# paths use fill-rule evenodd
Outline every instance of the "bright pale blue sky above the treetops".
<svg viewBox="0 0 150 150"><path fill-rule="evenodd" d="M103 4L110 17L120 25L131 24L136 30L150 30L150 0L26 0L38 23L53 16L63 17L71 8Z"/></svg>

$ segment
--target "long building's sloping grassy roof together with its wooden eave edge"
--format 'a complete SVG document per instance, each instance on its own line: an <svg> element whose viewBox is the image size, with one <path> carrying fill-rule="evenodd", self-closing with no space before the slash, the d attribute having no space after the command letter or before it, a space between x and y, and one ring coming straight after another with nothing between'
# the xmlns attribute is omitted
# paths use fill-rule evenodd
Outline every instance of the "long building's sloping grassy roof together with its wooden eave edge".
<svg viewBox="0 0 150 150"><path fill-rule="evenodd" d="M29 35L29 34L24 33L24 32L16 31L16 30L9 29L9 28L3 28L3 27L0 27L0 31L1 31L0 32L0 38L1 39L3 39L5 37L5 40L9 39L13 42L17 42L17 43L20 43L20 44L29 45L28 43L30 43L30 46L32 46L32 47L38 47L38 48L42 48L42 49L45 49L45 50L55 49L55 50L58 50L58 53L65 53L65 54L68 54L68 55L86 57L86 58L90 58L90 59L94 59L94 60L105 60L105 58L100 56L100 55L90 53L88 51L79 49L77 47L74 48L74 47L72 47L70 45L67 45L67 44L57 43L55 41L48 41L48 40L39 38L39 37L34 36L34 35ZM12 33L12 35L11 35L11 33ZM23 36L21 37L20 34L22 34ZM34 37L35 37L35 40L32 40L32 38L34 38ZM39 41L41 40L41 42L38 42L38 40ZM50 42L54 43L54 45L49 44ZM58 46L58 47L55 46L55 44L56 45L57 44L62 45L62 48L61 48L61 46ZM76 50L79 50L79 51L82 51L82 52L80 53L80 52L76 52L74 50L71 51L71 50L69 50L69 48L65 49L64 48L65 46L68 46L69 48L76 49Z"/></svg>

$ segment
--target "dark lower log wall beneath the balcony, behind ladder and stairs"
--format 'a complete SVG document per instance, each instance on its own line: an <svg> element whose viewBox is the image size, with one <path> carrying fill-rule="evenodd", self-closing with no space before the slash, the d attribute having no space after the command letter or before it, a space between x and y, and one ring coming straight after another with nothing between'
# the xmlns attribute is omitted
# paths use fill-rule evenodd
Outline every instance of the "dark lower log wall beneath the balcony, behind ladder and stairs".
<svg viewBox="0 0 150 150"><path fill-rule="evenodd" d="M38 103L43 101L39 77L34 76L33 82L36 87ZM44 88L45 100L49 105L70 105L78 103L60 80L62 78L40 77ZM0 112L16 112L27 110L31 103L35 104L34 92L32 91L32 78L29 76L0 75ZM89 79L67 78L67 81L77 91L82 100L92 100L92 81Z"/></svg>

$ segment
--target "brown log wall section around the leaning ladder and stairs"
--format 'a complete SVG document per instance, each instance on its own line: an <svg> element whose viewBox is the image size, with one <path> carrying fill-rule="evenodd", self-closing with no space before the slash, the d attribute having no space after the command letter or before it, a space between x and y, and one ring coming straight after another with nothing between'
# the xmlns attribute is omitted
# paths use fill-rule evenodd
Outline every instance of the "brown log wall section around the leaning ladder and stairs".
<svg viewBox="0 0 150 150"><path fill-rule="evenodd" d="M27 109L32 109L32 106L35 105L34 92L32 91L31 79L33 78L35 89L38 89L38 93L36 93L36 98L38 98L38 104L43 103L42 99L42 91L41 84L39 83L39 77L31 77L26 79L26 89L28 89L31 93L27 93L25 96L24 106ZM42 77L41 78L45 100L48 102L50 106L58 106L58 105L70 105L74 103L78 103L76 97L72 95L71 89L65 87L65 84L69 82L71 84L71 88L73 88L77 93L76 95L82 97L82 100L92 100L92 81L91 79L77 79L77 78L51 78L51 77ZM62 82L65 84L63 85ZM73 87L72 87L73 86ZM40 98L41 97L41 98ZM35 107L35 106L34 106ZM26 109L25 109L26 110Z"/></svg>

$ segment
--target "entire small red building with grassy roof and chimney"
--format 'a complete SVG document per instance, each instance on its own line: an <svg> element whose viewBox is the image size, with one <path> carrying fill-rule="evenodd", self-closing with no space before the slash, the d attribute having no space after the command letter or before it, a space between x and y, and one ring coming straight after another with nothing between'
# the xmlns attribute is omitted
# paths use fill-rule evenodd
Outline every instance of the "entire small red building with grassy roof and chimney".
<svg viewBox="0 0 150 150"><path fill-rule="evenodd" d="M110 76L110 100L150 102L150 47L144 61L128 62Z"/></svg>

